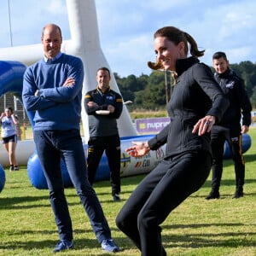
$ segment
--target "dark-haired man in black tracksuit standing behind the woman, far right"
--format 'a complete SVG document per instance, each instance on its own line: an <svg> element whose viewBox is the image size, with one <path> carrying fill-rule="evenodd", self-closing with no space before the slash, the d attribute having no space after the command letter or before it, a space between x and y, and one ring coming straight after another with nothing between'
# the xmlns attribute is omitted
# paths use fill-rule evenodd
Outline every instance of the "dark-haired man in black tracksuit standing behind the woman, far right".
<svg viewBox="0 0 256 256"><path fill-rule="evenodd" d="M212 191L207 200L219 198L219 186L223 172L224 143L230 145L236 172L236 192L233 198L243 196L245 178L245 162L241 154L241 133L249 131L252 106L245 90L244 82L230 69L224 52L216 52L212 56L214 77L224 94L230 100L230 107L223 119L212 127ZM242 115L242 119L241 119Z"/></svg>

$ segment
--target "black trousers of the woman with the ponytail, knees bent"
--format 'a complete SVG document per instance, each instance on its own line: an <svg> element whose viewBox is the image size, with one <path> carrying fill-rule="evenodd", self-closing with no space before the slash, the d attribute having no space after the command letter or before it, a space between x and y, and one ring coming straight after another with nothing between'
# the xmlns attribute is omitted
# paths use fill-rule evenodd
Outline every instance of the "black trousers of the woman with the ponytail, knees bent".
<svg viewBox="0 0 256 256"><path fill-rule="evenodd" d="M146 176L116 218L116 224L143 256L166 255L161 228L167 216L207 180L212 157L205 151L162 160Z"/></svg>

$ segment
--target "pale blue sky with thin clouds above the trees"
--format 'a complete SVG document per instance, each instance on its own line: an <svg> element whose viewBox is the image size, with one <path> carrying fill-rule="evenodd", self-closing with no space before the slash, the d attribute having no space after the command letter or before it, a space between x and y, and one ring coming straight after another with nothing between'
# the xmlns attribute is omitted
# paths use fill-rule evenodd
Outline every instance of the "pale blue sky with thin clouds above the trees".
<svg viewBox="0 0 256 256"><path fill-rule="evenodd" d="M119 77L152 72L147 63L155 61L153 36L162 26L188 32L199 49L206 50L200 59L209 66L216 51L226 52L231 64L256 62L255 0L95 3L102 52ZM48 23L61 26L63 39L70 39L65 0L0 0L0 48L40 44L42 28Z"/></svg>

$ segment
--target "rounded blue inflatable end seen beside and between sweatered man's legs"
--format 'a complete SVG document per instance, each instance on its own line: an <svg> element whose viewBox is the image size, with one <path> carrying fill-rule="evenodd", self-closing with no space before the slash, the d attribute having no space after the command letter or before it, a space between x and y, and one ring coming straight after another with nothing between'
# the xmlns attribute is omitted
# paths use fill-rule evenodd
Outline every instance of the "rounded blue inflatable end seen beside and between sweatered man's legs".
<svg viewBox="0 0 256 256"><path fill-rule="evenodd" d="M63 160L61 160L61 173L64 186L66 188L72 187L73 183L69 177L67 167ZM27 161L27 174L33 187L37 189L48 189L46 178L44 177L44 172L37 152L34 152Z"/></svg>

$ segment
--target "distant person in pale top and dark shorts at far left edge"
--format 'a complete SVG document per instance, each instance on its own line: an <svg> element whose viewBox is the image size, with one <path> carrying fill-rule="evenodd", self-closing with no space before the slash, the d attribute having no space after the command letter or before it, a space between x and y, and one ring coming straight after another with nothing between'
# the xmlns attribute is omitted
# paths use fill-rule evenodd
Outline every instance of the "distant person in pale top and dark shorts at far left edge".
<svg viewBox="0 0 256 256"><path fill-rule="evenodd" d="M17 145L17 131L16 125L19 123L19 119L15 116L13 108L5 108L4 112L0 116L2 124L2 138L4 148L9 154L9 171L19 171L19 166L15 157L15 149Z"/></svg>

